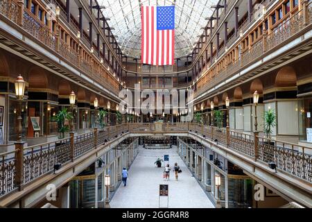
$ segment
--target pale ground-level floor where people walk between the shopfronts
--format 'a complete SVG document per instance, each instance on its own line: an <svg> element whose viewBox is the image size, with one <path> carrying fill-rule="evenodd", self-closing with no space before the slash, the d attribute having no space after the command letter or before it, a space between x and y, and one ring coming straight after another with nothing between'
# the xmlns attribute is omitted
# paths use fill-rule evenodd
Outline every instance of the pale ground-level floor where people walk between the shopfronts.
<svg viewBox="0 0 312 222"><path fill-rule="evenodd" d="M157 157L164 159L169 155L171 169L175 162L179 164L182 173L175 181L173 170L169 181L162 178L164 168L157 168L154 164ZM164 165L164 162L163 162ZM117 189L110 202L112 208L211 208L212 205L205 192L189 169L177 155L176 148L166 150L150 150L139 148L139 154L129 169L127 186L123 184ZM159 185L168 184L168 199L159 200Z"/></svg>

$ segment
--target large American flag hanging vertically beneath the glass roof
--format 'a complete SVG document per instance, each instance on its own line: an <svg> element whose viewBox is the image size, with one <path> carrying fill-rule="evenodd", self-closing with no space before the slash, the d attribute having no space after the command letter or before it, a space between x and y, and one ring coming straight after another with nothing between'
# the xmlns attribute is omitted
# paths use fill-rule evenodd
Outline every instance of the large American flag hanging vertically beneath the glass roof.
<svg viewBox="0 0 312 222"><path fill-rule="evenodd" d="M175 6L141 6L141 58L148 65L173 65Z"/></svg>

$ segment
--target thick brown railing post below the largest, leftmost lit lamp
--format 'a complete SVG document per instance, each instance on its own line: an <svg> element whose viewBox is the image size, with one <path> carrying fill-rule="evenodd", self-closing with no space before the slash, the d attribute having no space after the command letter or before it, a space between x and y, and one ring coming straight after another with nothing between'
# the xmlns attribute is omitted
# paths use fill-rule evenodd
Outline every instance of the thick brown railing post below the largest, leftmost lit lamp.
<svg viewBox="0 0 312 222"><path fill-rule="evenodd" d="M24 144L15 142L15 185L19 191L23 190L24 183Z"/></svg>

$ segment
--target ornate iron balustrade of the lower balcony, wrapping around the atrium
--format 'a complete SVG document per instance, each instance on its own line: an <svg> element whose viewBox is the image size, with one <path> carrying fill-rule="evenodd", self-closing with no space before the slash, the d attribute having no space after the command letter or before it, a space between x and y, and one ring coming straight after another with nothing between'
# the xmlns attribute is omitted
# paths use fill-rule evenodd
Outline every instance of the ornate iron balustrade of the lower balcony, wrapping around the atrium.
<svg viewBox="0 0 312 222"><path fill-rule="evenodd" d="M75 161L121 133L144 135L157 130L155 123L124 123L94 130L92 133L71 134L70 137L55 142L26 148L17 145L15 151L0 154L0 196L16 190L19 185L51 173L56 163L67 164ZM205 139L253 161L264 164L275 162L281 173L312 182L312 148L198 123L163 123L162 131L158 133L189 132L205 136ZM22 155L20 150L23 151ZM19 172L20 169L23 169L23 173Z"/></svg>

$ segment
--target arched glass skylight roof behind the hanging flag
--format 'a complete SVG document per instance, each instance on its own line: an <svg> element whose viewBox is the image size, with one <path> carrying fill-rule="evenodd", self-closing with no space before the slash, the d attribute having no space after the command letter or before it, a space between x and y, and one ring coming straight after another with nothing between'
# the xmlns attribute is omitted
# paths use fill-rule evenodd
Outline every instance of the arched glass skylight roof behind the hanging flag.
<svg viewBox="0 0 312 222"><path fill-rule="evenodd" d="M103 15L110 18L108 24L123 53L139 58L141 55L141 7L175 6L175 58L187 56L193 51L218 0L98 0Z"/></svg>

